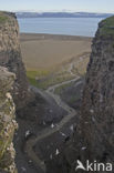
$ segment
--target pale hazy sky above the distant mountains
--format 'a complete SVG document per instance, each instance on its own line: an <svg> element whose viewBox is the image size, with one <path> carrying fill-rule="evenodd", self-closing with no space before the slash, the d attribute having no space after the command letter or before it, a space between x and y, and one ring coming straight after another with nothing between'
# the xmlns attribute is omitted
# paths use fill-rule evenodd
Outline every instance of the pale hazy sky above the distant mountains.
<svg viewBox="0 0 114 173"><path fill-rule="evenodd" d="M114 0L0 0L6 11L75 11L114 13Z"/></svg>

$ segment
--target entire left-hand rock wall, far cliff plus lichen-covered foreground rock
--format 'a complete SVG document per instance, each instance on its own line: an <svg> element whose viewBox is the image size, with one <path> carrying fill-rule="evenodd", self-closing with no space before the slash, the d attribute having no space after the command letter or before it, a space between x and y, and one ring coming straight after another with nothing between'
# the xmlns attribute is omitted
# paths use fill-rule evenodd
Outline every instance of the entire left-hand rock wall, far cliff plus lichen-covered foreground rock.
<svg viewBox="0 0 114 173"><path fill-rule="evenodd" d="M18 125L14 112L24 108L30 99L17 18L13 13L0 12L0 173L17 173L13 134Z"/></svg>

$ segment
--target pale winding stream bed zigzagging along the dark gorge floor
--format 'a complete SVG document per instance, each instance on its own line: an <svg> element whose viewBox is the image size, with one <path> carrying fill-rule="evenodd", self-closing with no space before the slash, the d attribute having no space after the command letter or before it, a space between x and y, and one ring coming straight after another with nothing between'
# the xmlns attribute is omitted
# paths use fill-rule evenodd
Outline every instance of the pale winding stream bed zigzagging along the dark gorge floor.
<svg viewBox="0 0 114 173"><path fill-rule="evenodd" d="M71 71L71 68L70 68ZM35 92L35 93L40 93L45 100L50 100L54 99L55 103L61 106L63 110L65 110L68 112L68 115L65 115L53 129L51 126L44 129L43 131L39 132L39 134L37 135L35 139L29 139L27 141L25 144L25 151L28 153L28 156L30 157L30 160L41 169L42 173L45 173L46 169L45 169L45 164L43 161L40 160L40 157L35 154L35 152L33 151L33 146L40 141L43 140L50 135L52 135L53 133L60 131L72 118L74 118L76 115L76 111L69 106L65 102L63 102L61 100L61 98L54 93L55 89L64 85L64 84L69 84L71 82L75 82L80 79L80 77L76 77L75 79L69 80L69 81L64 81L62 83L49 86L48 90L42 91L35 86L31 86L31 89ZM76 83L76 85L79 85L82 81L79 81Z"/></svg>

